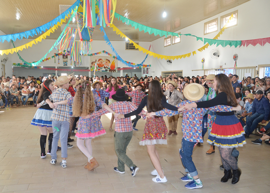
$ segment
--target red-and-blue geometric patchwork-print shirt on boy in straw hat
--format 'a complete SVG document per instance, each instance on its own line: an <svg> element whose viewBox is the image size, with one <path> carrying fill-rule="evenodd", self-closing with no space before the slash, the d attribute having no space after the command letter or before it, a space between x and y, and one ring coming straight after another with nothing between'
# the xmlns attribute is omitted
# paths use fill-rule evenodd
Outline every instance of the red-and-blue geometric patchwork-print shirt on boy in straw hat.
<svg viewBox="0 0 270 193"><path fill-rule="evenodd" d="M186 100L176 105L176 107L181 107L186 103L194 103L200 101L190 101ZM204 111L218 111L218 112L228 112L232 111L231 106L218 105L210 108L193 108L190 111L184 110L183 112L183 121L182 121L182 132L185 140L190 142L200 142L203 143L202 137L202 122L203 122L203 113ZM164 109L156 112L157 116L173 116L179 114L179 111L171 111Z"/></svg>

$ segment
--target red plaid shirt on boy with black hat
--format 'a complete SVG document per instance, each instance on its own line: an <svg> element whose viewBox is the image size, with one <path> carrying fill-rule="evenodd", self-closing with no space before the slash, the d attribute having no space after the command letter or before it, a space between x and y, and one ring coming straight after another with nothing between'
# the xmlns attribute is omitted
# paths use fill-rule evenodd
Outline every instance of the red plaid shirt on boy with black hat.
<svg viewBox="0 0 270 193"><path fill-rule="evenodd" d="M131 102L127 102L127 101L117 101L113 104L110 104L109 107L116 113L119 114L127 114L130 113L131 111L135 111L137 109L137 106L135 106L133 103ZM99 111L96 111L94 113L91 114L91 119L94 119L96 117L100 117L101 115L104 115L106 113L109 113L109 111L107 111L106 109L101 109ZM141 113L139 114L140 116L143 117L143 119L146 119L145 115L141 115ZM130 132L132 131L132 123L131 123L131 118L124 118L124 119L120 119L120 120L115 120L115 128L114 130L116 132Z"/></svg>

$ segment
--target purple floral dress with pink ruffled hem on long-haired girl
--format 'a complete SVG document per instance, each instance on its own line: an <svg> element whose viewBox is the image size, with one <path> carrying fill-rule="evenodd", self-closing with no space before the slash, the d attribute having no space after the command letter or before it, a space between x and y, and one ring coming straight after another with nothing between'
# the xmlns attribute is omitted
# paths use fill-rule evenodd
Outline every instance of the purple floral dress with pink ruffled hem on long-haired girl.
<svg viewBox="0 0 270 193"><path fill-rule="evenodd" d="M94 100L97 106L102 107L104 104L101 101L101 98L97 94L94 95ZM84 95L83 95L84 98ZM73 97L68 99L68 104L71 105L73 103ZM83 101L82 101L83 102ZM92 121L91 121L92 120ZM105 135L106 131L103 129L100 118L97 117L95 119L83 119L79 118L78 120L78 132L75 137L79 139L93 139L95 137Z"/></svg>

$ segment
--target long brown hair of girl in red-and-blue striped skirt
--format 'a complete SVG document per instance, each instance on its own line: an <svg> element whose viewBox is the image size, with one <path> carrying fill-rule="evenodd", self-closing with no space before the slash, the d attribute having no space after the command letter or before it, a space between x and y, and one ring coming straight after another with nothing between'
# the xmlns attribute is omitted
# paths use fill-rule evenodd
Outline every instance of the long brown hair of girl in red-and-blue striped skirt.
<svg viewBox="0 0 270 193"><path fill-rule="evenodd" d="M227 94L228 105L236 107L238 102L236 100L230 79L225 74L217 74L215 79L217 80L216 94L218 95L218 92L225 92Z"/></svg>

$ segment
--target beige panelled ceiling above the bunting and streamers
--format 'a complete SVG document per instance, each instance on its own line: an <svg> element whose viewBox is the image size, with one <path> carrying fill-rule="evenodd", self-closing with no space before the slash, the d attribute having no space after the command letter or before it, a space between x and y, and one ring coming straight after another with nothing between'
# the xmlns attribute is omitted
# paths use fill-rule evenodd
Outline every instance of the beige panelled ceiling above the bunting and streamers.
<svg viewBox="0 0 270 193"><path fill-rule="evenodd" d="M193 0L191 3L186 0L119 0L116 12L143 25L175 32L247 1L249 0ZM14 34L39 27L60 15L59 5L72 5L74 2L75 0L2 0L0 30L6 34ZM162 17L164 8L166 18ZM20 16L19 20L16 19L16 14ZM135 30L116 18L113 23L134 41L153 41L160 37ZM47 38L57 39L61 32L59 28ZM109 27L105 28L105 32L110 40L123 40ZM33 38L36 37L38 36ZM93 40L103 40L99 27L94 31Z"/></svg>

